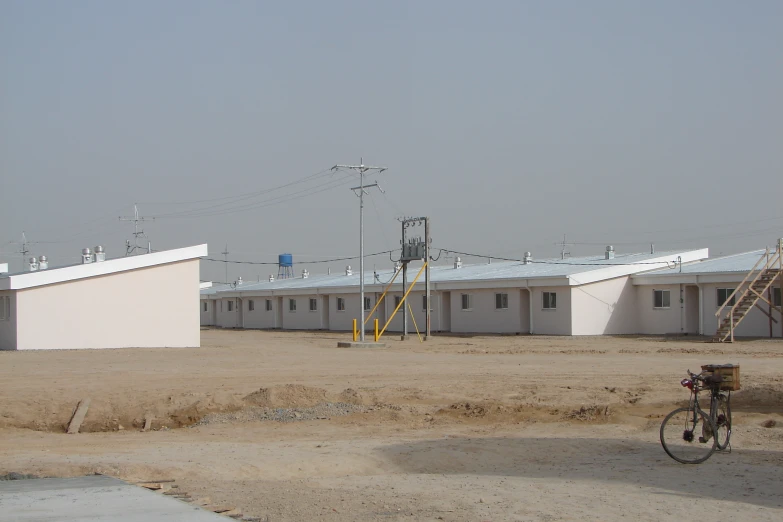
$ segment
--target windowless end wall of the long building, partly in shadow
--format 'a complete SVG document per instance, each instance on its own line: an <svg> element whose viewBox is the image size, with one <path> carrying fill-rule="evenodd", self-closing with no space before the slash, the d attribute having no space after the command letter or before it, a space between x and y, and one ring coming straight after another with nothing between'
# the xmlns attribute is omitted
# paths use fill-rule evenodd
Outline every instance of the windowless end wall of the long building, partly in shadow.
<svg viewBox="0 0 783 522"><path fill-rule="evenodd" d="M560 294L558 293L558 299ZM652 303L652 297L650 297ZM638 332L636 288L630 277L571 287L571 334Z"/></svg>

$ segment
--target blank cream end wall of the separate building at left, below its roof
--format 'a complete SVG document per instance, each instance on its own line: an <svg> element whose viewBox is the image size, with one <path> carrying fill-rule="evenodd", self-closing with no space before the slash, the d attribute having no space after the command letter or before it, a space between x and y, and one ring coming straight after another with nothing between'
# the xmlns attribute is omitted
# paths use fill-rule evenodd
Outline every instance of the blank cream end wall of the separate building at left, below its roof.
<svg viewBox="0 0 783 522"><path fill-rule="evenodd" d="M17 349L197 347L199 260L18 290Z"/></svg>

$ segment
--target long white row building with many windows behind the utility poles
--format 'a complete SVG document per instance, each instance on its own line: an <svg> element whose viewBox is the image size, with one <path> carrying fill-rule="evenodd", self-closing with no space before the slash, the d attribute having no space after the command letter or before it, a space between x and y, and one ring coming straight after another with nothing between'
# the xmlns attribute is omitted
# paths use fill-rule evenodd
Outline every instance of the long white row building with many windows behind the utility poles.
<svg viewBox="0 0 783 522"><path fill-rule="evenodd" d="M637 287L631 276L676 263L706 259L707 249L683 252L433 266L431 329L455 333L535 333L603 335L640 333ZM412 281L418 268L411 266ZM375 307L394 272L365 274L364 307ZM376 277L377 275L377 277ZM272 279L272 278L270 278ZM402 295L398 277L367 322L383 326ZM350 331L361 317L359 276L346 270L331 275L242 283L202 290L202 324L224 328ZM206 305L205 305L205 302ZM424 278L408 297L413 318L424 330ZM206 308L205 308L206 306ZM211 310L211 311L210 311ZM398 314L388 331L400 332ZM415 330L409 321L409 332Z"/></svg>

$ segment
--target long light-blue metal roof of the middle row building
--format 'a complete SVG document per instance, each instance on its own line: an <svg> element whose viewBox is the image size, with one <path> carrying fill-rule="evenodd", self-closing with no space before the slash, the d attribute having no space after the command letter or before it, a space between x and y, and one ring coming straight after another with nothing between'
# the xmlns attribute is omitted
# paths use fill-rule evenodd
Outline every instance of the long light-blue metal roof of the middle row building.
<svg viewBox="0 0 783 522"><path fill-rule="evenodd" d="M706 251L691 251L691 259L706 257ZM481 281L502 281L518 279L545 279L545 278L564 278L585 274L596 270L606 270L607 268L624 268L623 273L614 273L610 277L619 277L651 268L665 266L666 262L672 262L677 256L688 254L686 252L656 252L655 254L615 254L614 259L605 259L604 256L589 257L570 257L562 259L534 259L529 264L520 261L504 261L496 263L485 263L475 265L463 265L462 268L453 266L432 266L430 270L430 281L437 283L458 283L458 282L481 282ZM694 257L695 256L695 257ZM412 282L416 277L420 266L411 267L408 270L408 280ZM377 279L373 272L365 271L365 286L385 286L394 276L394 270L378 270ZM604 278L602 278L604 279ZM402 282L402 277L397 276L395 285ZM418 284L424 283L424 276L419 278ZM263 291L281 291L281 290L307 290L307 289L326 289L326 288L345 288L358 287L359 274L356 270L352 275L347 276L345 272L330 275L309 275L307 278L296 277L288 279L275 279L274 281L262 281L259 283L243 283L236 287L220 288L214 292L202 295L213 295L223 292L263 292Z"/></svg>

